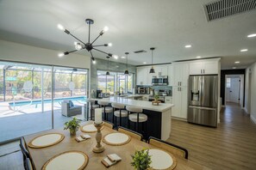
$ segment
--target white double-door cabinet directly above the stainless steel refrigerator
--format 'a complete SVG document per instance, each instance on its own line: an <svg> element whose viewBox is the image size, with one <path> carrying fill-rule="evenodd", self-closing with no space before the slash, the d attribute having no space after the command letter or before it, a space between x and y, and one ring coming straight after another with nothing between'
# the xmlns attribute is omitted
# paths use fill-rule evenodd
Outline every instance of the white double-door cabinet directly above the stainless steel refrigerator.
<svg viewBox="0 0 256 170"><path fill-rule="evenodd" d="M218 72L218 60L190 62L190 75L213 75Z"/></svg>

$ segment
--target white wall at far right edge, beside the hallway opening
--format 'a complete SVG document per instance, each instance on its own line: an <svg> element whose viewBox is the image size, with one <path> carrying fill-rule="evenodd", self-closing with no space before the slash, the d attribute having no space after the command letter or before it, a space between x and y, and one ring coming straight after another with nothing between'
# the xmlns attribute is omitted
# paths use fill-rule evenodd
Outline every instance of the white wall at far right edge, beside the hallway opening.
<svg viewBox="0 0 256 170"><path fill-rule="evenodd" d="M249 72L252 73L252 79L251 79L251 91L248 90L249 85ZM251 94L251 108L248 109L248 98L246 97L246 110L250 110L249 112L251 114L251 118L253 122L256 124L256 63L252 64L250 67L246 70L246 96L249 96L248 94Z"/></svg>

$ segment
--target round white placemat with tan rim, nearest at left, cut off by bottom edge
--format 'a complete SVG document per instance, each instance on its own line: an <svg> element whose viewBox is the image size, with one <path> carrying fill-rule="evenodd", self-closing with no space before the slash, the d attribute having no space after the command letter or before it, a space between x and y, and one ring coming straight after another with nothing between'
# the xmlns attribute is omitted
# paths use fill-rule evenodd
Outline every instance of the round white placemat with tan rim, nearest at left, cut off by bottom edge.
<svg viewBox="0 0 256 170"><path fill-rule="evenodd" d="M72 164L75 164L75 162L78 161L78 158L76 158L74 155L68 156L69 154L73 154L73 153L84 156L84 162L81 163L81 165L76 165L76 167L70 167L70 166L72 166ZM57 161L54 163L58 165L58 168L54 167L53 160ZM59 170L60 169L79 169L80 170L80 169L84 169L87 166L88 162L89 162L88 155L84 154L84 152L81 152L81 151L72 150L72 151L66 151L66 152L63 152L63 153L53 156L51 159L49 159L44 164L44 166L41 169L42 170L47 170L47 169L54 169L54 170L55 169L56 170L58 170L58 169ZM59 166L58 163L60 163L61 166ZM52 167L50 167L50 166L52 166Z"/></svg>

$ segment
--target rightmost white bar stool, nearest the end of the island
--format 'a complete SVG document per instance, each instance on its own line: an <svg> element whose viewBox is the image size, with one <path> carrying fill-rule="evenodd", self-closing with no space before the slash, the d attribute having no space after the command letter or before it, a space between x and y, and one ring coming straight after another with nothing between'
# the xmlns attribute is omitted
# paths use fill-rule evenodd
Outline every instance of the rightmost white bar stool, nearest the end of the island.
<svg viewBox="0 0 256 170"><path fill-rule="evenodd" d="M134 122L136 124L136 131L138 132L139 123L147 122L147 114L142 113L143 109L137 106L126 106L126 110L128 110L128 128L130 126L130 122ZM130 112L134 113L130 114Z"/></svg>

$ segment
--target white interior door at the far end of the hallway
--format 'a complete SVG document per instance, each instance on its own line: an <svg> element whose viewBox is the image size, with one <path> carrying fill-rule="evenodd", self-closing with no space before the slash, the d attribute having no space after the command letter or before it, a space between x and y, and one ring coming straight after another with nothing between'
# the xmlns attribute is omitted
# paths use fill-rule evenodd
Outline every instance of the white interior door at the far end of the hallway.
<svg viewBox="0 0 256 170"><path fill-rule="evenodd" d="M230 82L230 101L234 103L239 103L239 88L240 88L240 78L231 78Z"/></svg>

